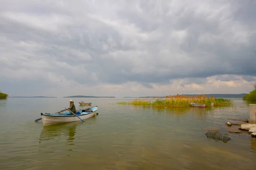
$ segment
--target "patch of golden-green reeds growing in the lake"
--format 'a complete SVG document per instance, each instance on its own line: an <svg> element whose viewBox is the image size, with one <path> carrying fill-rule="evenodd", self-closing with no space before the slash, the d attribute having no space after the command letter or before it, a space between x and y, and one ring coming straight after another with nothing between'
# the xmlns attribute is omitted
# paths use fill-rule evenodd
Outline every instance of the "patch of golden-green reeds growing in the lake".
<svg viewBox="0 0 256 170"><path fill-rule="evenodd" d="M214 106L230 106L233 105L232 99L219 99L207 95L197 95L197 96L181 96L179 94L173 96L166 96L164 99L161 97L153 98L153 101L148 101L148 99L135 99L131 102L117 102L117 104L122 105L143 105L152 107L167 107L167 108L188 108L191 107L189 102L205 104L205 107L211 107L212 103Z"/></svg>

